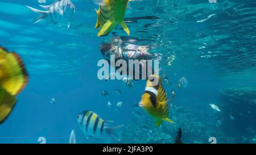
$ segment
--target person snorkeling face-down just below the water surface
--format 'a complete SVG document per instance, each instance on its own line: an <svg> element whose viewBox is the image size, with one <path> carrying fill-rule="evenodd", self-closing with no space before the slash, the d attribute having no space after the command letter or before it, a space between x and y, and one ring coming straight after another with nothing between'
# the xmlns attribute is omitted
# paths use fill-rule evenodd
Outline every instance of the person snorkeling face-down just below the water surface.
<svg viewBox="0 0 256 155"><path fill-rule="evenodd" d="M115 65L115 63L111 63L112 60L110 56L114 56L115 62L118 60L123 60L126 62L127 73L118 72L121 76L127 76L135 80L143 79L142 67L145 65L150 66L151 64L148 62L148 60L157 59L158 54L149 53L147 46L126 44L124 47L121 47L121 44L122 44L122 40L120 39L120 37L113 37L110 43L102 43L102 45L100 46L100 51L103 57L112 66L113 64ZM136 67L135 64L133 64L133 66L129 66L129 60L138 60L139 68L137 68L138 66ZM152 64L154 63L152 62ZM113 66L113 67L115 67L115 69L118 71L118 69L121 68L122 66ZM146 69L147 69L146 75L148 74L148 76L150 76L151 74L154 74L154 69L152 68L152 66L150 66L150 68L146 67ZM136 75L139 75L139 77L136 77Z"/></svg>

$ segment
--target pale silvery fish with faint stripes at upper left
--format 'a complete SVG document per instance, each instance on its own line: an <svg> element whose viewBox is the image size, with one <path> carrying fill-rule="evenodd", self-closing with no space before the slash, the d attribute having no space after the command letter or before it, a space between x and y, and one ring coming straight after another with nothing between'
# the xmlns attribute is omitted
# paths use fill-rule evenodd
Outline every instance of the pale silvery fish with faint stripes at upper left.
<svg viewBox="0 0 256 155"><path fill-rule="evenodd" d="M69 20L72 18L73 13L75 12L75 5L70 0L57 0L52 5L43 6L39 5L46 11L34 9L30 6L27 6L30 10L42 14L39 19L37 19L34 23L38 23L43 19L48 20L48 22L56 24L60 23L67 24L67 27L70 27Z"/></svg>

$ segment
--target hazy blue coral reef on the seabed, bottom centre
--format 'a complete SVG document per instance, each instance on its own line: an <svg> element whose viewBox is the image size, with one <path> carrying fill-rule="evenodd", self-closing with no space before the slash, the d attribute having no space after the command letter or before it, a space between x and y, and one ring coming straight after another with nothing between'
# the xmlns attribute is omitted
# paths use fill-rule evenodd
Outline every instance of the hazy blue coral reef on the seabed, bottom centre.
<svg viewBox="0 0 256 155"><path fill-rule="evenodd" d="M216 136L217 143L234 143L234 139L228 137L216 125L211 122L201 122L201 116L196 116L191 111L184 110L183 107L174 106L170 108L170 118L175 124L163 122L157 128L152 119L147 114L141 116L133 115L133 123L127 125L121 134L122 143L174 143L176 132L179 127L182 129L181 141L183 143L210 143L209 137ZM146 125L152 131L143 130Z"/></svg>

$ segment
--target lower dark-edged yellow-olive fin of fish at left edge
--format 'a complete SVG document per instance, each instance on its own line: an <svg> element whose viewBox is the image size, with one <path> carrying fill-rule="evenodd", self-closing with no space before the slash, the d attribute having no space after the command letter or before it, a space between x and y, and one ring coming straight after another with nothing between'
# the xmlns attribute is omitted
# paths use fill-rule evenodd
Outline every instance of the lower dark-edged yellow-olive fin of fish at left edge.
<svg viewBox="0 0 256 155"><path fill-rule="evenodd" d="M5 122L11 111L13 111L15 104L16 98L0 87L0 124Z"/></svg>

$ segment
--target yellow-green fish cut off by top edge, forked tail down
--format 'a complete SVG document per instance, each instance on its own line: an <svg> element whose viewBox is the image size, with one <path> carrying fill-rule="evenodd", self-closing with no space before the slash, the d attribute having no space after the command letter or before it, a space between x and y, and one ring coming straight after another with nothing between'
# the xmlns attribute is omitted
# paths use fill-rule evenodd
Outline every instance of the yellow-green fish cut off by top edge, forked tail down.
<svg viewBox="0 0 256 155"><path fill-rule="evenodd" d="M127 33L130 35L129 28L127 27L123 18L125 17L127 3L134 0L102 0L94 1L100 5L100 9L96 10L97 22L95 28L100 28L98 36L106 36L118 24L120 24Z"/></svg>

